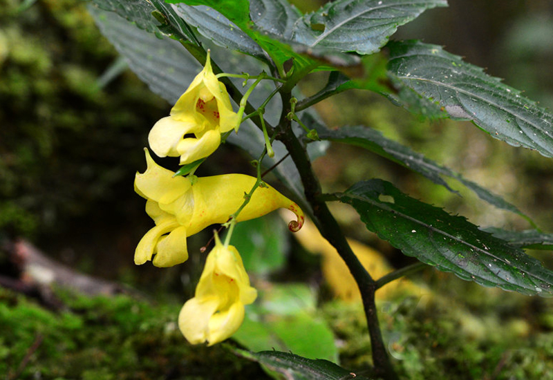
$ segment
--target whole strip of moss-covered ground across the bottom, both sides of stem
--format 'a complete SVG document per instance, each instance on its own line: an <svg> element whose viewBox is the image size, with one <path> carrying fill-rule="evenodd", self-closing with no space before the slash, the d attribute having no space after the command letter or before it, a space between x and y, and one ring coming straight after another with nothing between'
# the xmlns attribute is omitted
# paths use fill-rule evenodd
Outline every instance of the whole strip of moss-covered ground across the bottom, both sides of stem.
<svg viewBox="0 0 553 380"><path fill-rule="evenodd" d="M384 339L402 379L553 379L550 301L449 276L439 281L440 292L379 301ZM6 379L269 378L229 345L186 343L174 299L57 295L64 308L53 312L0 289ZM363 373L371 346L362 307L328 301L320 313L335 333L341 365Z"/></svg>

